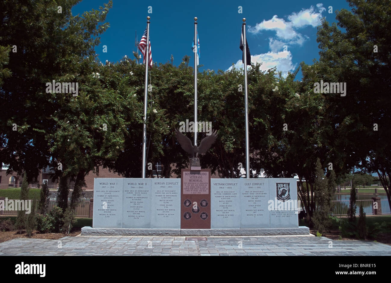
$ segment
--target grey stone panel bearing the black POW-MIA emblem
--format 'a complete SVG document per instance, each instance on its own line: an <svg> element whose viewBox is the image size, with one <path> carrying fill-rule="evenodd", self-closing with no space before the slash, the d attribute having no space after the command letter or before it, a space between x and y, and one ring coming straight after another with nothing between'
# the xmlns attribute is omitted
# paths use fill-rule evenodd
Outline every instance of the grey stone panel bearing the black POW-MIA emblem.
<svg viewBox="0 0 391 283"><path fill-rule="evenodd" d="M297 180L295 178L269 178L269 191L270 227L299 227Z"/></svg>

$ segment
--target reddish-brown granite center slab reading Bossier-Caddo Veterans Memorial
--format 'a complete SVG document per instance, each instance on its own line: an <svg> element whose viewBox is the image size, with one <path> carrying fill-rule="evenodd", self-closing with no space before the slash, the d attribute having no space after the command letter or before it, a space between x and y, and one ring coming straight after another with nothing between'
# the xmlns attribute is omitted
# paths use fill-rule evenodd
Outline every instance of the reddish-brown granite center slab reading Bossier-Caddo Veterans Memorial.
<svg viewBox="0 0 391 283"><path fill-rule="evenodd" d="M181 229L210 229L210 169L181 170Z"/></svg>

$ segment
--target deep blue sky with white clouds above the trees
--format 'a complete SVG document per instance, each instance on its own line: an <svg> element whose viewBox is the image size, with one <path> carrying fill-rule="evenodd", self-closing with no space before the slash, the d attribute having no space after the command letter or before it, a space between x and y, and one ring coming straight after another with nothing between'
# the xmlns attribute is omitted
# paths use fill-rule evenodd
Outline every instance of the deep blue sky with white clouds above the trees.
<svg viewBox="0 0 391 283"><path fill-rule="evenodd" d="M83 0L72 13L99 9L108 0ZM152 13L148 13L148 6ZM238 13L242 6L242 13ZM332 6L333 13L328 13ZM242 67L239 49L242 18L246 18L247 41L252 62L263 62L262 70L277 67L283 74L293 72L301 61L311 64L319 59L316 26L326 16L335 22L335 10L350 10L343 0L321 1L126 1L113 0L106 22L107 31L95 50L103 63L120 61L124 55L133 59L135 31L140 40L147 16L151 17L150 38L152 59L166 63L174 57L179 65L183 56L193 56L194 17L198 18L198 34L203 65L200 70L227 70L234 63ZM102 52L107 45L107 53ZM284 52L283 45L287 45ZM194 65L194 59L190 59ZM301 79L299 72L296 79Z"/></svg>

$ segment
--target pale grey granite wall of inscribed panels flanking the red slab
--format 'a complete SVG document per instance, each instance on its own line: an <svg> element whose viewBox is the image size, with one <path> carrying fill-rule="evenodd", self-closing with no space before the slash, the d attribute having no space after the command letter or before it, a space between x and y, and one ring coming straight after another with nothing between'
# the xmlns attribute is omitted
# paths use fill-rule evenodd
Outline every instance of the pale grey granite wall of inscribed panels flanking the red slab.
<svg viewBox="0 0 391 283"><path fill-rule="evenodd" d="M210 179L209 193L211 229L298 227L294 178ZM181 195L178 178L95 178L93 228L181 229Z"/></svg>

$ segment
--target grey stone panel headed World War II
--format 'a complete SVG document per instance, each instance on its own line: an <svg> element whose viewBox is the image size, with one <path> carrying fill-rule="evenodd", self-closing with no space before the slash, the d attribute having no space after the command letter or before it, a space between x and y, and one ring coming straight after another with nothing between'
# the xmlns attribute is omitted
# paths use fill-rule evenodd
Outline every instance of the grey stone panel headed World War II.
<svg viewBox="0 0 391 283"><path fill-rule="evenodd" d="M124 178L122 228L151 228L151 179Z"/></svg>

